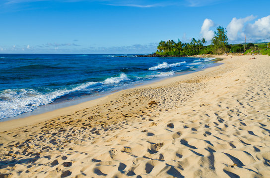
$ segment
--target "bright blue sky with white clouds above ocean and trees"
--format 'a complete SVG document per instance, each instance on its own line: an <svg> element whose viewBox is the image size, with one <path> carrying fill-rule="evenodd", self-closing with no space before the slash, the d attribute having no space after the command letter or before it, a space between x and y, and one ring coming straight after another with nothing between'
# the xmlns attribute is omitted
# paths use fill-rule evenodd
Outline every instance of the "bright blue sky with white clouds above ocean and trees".
<svg viewBox="0 0 270 178"><path fill-rule="evenodd" d="M0 53L152 53L167 40L270 41L270 0L0 0Z"/></svg>

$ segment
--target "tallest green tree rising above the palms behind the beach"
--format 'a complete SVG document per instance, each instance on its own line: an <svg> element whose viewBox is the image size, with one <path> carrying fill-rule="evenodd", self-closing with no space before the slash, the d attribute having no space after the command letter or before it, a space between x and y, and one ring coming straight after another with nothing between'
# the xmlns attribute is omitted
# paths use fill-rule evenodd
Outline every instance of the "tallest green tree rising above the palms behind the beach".
<svg viewBox="0 0 270 178"><path fill-rule="evenodd" d="M214 53L221 54L228 50L227 30L221 26L217 27L211 43L214 46Z"/></svg>

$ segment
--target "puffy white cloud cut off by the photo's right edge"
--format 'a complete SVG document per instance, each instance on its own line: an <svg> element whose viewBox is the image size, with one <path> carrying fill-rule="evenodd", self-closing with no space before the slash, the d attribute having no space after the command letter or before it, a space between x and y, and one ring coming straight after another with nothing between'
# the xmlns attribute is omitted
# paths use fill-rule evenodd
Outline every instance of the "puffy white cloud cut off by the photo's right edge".
<svg viewBox="0 0 270 178"><path fill-rule="evenodd" d="M256 20L253 24L247 24L245 33L252 41L270 37L270 15Z"/></svg>

